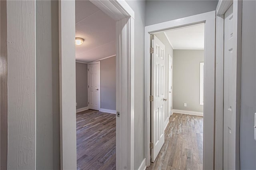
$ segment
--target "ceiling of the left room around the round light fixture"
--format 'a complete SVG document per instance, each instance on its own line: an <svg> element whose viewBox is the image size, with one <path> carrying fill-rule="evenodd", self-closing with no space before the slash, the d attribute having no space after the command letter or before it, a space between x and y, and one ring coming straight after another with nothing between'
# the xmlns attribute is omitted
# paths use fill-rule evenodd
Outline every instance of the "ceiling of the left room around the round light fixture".
<svg viewBox="0 0 256 170"><path fill-rule="evenodd" d="M116 22L92 2L76 0L76 61L91 62L116 54Z"/></svg>

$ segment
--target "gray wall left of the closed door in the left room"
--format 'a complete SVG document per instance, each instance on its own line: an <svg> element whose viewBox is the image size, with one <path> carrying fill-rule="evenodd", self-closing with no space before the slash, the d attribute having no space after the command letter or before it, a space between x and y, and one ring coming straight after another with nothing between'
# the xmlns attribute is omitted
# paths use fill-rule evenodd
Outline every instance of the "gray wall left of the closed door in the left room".
<svg viewBox="0 0 256 170"><path fill-rule="evenodd" d="M76 62L76 109L88 106L87 64Z"/></svg>

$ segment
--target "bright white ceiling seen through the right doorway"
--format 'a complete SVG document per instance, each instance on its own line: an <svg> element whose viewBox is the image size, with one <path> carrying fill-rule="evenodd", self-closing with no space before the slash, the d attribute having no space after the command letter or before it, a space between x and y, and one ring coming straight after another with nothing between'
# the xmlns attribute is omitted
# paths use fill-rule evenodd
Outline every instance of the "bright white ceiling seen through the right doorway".
<svg viewBox="0 0 256 170"><path fill-rule="evenodd" d="M164 32L173 49L204 49L204 23Z"/></svg>

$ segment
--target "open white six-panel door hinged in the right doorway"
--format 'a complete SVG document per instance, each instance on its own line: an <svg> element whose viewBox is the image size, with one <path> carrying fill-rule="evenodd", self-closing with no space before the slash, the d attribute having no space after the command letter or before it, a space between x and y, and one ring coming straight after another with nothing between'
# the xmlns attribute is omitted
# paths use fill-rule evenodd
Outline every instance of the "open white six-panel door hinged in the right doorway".
<svg viewBox="0 0 256 170"><path fill-rule="evenodd" d="M152 36L151 56L151 161L154 162L164 144L164 53L165 46Z"/></svg>

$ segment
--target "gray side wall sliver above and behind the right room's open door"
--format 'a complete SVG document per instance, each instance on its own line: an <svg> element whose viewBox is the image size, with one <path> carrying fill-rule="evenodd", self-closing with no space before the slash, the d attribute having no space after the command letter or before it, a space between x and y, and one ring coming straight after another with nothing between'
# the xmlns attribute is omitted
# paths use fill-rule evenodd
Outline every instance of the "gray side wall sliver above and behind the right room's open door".
<svg viewBox="0 0 256 170"><path fill-rule="evenodd" d="M170 45L170 43L168 42L166 36L164 35L164 33L159 33L159 34L156 34L156 37L162 42L164 43L165 45L165 69L164 69L164 98L165 99L168 99L168 75L169 75L169 57L168 57L168 54L170 54L172 57L173 57L173 49L172 49L172 46ZM165 105L164 105L164 120L166 121L166 119L168 119L168 101L165 102Z"/></svg>

